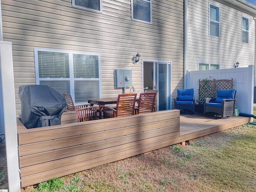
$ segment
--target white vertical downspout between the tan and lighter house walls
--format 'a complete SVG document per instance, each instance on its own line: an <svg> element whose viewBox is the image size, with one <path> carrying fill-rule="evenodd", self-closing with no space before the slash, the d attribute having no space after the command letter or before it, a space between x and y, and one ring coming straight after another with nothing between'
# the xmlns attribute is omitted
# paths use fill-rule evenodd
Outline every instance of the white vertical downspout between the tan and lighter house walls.
<svg viewBox="0 0 256 192"><path fill-rule="evenodd" d="M187 77L187 68L188 68L188 0L184 0L184 89L188 88L188 77Z"/></svg>

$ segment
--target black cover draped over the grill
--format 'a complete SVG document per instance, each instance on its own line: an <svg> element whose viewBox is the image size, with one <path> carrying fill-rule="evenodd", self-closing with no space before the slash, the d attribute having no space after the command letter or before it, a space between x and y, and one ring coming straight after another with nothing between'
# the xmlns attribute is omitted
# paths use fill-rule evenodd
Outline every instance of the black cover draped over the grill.
<svg viewBox="0 0 256 192"><path fill-rule="evenodd" d="M19 97L21 122L26 128L60 125L66 101L59 92L47 85L24 85Z"/></svg>

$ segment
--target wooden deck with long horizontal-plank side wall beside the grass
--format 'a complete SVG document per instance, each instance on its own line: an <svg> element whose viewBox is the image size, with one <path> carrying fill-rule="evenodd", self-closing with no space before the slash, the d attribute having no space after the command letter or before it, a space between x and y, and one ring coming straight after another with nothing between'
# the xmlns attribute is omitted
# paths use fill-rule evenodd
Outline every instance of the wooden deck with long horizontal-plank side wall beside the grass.
<svg viewBox="0 0 256 192"><path fill-rule="evenodd" d="M21 186L240 126L250 118L180 116L179 110L26 129L17 119ZM73 117L76 116L73 114Z"/></svg>

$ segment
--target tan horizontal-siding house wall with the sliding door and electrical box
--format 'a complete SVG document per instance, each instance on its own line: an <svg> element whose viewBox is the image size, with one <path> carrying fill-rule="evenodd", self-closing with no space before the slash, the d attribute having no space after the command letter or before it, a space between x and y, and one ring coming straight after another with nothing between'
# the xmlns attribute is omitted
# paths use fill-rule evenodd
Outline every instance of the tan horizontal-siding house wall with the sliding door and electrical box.
<svg viewBox="0 0 256 192"><path fill-rule="evenodd" d="M153 0L152 24L131 20L130 0L103 0L103 12L71 0L1 0L3 39L12 42L16 114L18 88L36 84L34 47L101 54L102 97L117 96L114 68L131 68L142 92L142 65L132 58L172 61L172 89L183 87L183 0ZM172 90L172 91L173 91Z"/></svg>

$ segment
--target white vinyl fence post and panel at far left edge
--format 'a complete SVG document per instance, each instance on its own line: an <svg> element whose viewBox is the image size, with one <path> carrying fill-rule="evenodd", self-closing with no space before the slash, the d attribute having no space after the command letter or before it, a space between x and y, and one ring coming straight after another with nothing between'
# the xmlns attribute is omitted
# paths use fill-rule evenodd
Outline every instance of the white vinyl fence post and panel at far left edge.
<svg viewBox="0 0 256 192"><path fill-rule="evenodd" d="M20 172L11 42L0 41L0 84L1 123L5 130L8 190L18 192L20 191Z"/></svg>

